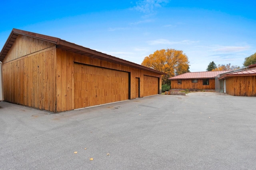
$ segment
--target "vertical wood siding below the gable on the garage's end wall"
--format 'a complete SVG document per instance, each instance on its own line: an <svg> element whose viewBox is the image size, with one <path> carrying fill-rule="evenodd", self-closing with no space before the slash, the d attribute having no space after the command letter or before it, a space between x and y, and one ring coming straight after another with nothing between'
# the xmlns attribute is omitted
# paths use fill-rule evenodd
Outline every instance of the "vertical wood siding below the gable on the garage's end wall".
<svg viewBox="0 0 256 170"><path fill-rule="evenodd" d="M55 111L55 49L3 65L4 100Z"/></svg>

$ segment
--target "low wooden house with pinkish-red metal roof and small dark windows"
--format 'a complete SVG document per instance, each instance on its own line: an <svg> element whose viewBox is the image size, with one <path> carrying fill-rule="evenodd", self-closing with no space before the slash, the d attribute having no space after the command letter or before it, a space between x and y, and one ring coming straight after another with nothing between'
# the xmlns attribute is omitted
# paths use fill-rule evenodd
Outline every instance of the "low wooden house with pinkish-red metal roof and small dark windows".
<svg viewBox="0 0 256 170"><path fill-rule="evenodd" d="M186 72L168 78L171 89L215 90L215 77L230 71Z"/></svg>

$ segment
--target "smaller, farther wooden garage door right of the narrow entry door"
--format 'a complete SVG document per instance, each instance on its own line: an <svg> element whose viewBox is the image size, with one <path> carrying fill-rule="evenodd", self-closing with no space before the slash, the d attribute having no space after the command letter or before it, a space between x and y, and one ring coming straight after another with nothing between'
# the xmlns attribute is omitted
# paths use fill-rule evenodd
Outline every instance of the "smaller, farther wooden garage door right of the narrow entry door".
<svg viewBox="0 0 256 170"><path fill-rule="evenodd" d="M144 96L158 94L159 78L144 75Z"/></svg>

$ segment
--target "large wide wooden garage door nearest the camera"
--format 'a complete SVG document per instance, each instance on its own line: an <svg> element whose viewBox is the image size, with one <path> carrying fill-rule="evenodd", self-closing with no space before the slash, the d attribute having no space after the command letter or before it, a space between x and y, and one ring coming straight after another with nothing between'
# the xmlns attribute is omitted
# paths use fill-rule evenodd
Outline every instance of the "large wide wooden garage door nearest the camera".
<svg viewBox="0 0 256 170"><path fill-rule="evenodd" d="M128 72L74 64L75 109L128 100Z"/></svg>

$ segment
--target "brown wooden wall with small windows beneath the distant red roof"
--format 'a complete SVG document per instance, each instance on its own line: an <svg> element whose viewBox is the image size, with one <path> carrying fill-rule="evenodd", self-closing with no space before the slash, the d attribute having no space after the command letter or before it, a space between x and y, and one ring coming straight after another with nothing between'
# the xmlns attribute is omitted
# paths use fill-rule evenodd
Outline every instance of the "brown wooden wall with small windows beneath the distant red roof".
<svg viewBox="0 0 256 170"><path fill-rule="evenodd" d="M171 80L171 89L198 89L198 90L214 90L215 80L209 79L209 85L203 85L203 79L198 79L197 83L192 83L192 79L182 80L182 84L178 84L178 80Z"/></svg>

